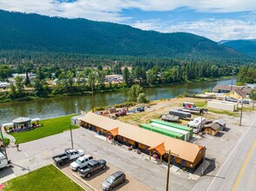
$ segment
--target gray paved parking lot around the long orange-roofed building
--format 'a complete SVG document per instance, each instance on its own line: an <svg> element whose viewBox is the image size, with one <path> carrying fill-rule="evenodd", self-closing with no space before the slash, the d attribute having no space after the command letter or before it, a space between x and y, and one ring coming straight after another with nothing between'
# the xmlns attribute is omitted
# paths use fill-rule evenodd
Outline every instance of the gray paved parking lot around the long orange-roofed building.
<svg viewBox="0 0 256 191"><path fill-rule="evenodd" d="M216 174L216 170L219 169L219 166L232 152L239 138L246 131L246 125L249 125L252 121L253 116L255 116L254 113L245 112L243 118L243 125L245 126L238 125L238 117L226 117L226 131L221 132L216 137L205 135L199 138L197 143L206 146L206 157L212 161L212 166L205 171L206 176L202 178L194 178L194 175L183 172L181 169L171 170L170 189L204 189L209 181L212 180L212 175ZM125 184L120 185L118 190L165 190L165 166L149 161L148 157L137 155L135 152L128 151L122 146L111 145L111 143L105 142L105 140L98 139L96 135L95 132L84 128L73 130L74 148L82 148L85 154L93 155L96 159L104 159L109 167L105 171L93 175L90 179L84 179L91 186L100 190L101 182L108 175L121 170L127 175L127 181ZM23 175L31 170L41 168L51 163L53 155L63 153L64 148L71 148L69 131L20 144L21 151L17 151L17 148L8 148L8 156L14 165L13 168L3 173L6 173L5 177L11 176L13 178L14 176ZM77 179L69 167L62 168L62 170L73 179Z"/></svg>

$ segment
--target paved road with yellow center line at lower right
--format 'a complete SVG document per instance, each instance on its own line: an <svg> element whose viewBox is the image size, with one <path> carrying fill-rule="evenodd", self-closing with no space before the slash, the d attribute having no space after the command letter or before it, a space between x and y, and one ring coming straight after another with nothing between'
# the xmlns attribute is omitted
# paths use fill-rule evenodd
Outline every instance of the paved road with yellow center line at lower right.
<svg viewBox="0 0 256 191"><path fill-rule="evenodd" d="M232 153L213 177L207 191L255 190L256 188L256 115Z"/></svg>

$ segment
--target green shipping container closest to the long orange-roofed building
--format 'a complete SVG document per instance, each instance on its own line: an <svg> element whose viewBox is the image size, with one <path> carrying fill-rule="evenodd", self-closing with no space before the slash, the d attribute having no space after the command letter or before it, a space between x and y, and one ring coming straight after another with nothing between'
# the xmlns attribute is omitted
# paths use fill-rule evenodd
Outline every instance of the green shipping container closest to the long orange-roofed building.
<svg viewBox="0 0 256 191"><path fill-rule="evenodd" d="M140 124L139 127L140 128L145 128L147 130L150 130L150 131L158 133L158 134L170 136L172 138L180 139L180 140L185 141L185 135L173 132L172 130L167 130L165 128L154 127L150 124L145 124L145 123Z"/></svg>

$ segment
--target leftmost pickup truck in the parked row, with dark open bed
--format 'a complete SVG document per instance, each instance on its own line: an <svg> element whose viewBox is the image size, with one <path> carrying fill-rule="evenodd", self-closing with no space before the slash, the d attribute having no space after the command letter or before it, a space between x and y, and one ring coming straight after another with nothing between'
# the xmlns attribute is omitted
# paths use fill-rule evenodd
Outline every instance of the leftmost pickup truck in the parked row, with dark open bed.
<svg viewBox="0 0 256 191"><path fill-rule="evenodd" d="M68 161L75 160L82 155L84 155L84 150L82 149L66 148L64 150L64 154L55 155L52 157L52 160L56 163L57 166L60 166L64 165Z"/></svg>

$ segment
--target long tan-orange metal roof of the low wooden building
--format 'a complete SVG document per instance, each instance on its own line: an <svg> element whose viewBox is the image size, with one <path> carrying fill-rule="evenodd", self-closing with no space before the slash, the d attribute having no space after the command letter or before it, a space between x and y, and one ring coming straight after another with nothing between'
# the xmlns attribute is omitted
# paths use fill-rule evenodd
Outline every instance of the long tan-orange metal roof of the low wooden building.
<svg viewBox="0 0 256 191"><path fill-rule="evenodd" d="M155 147L156 145L164 142L166 150L172 150L174 155L179 155L179 158L186 161L194 162L197 155L199 155L200 150L203 149L200 145L193 144L191 142L184 142L166 135L160 135L125 122L112 120L111 118L103 115L87 113L80 119L83 122L88 122L96 127L104 128L108 131L113 128L118 128L118 135L124 136L135 142L142 143L148 147Z"/></svg>

